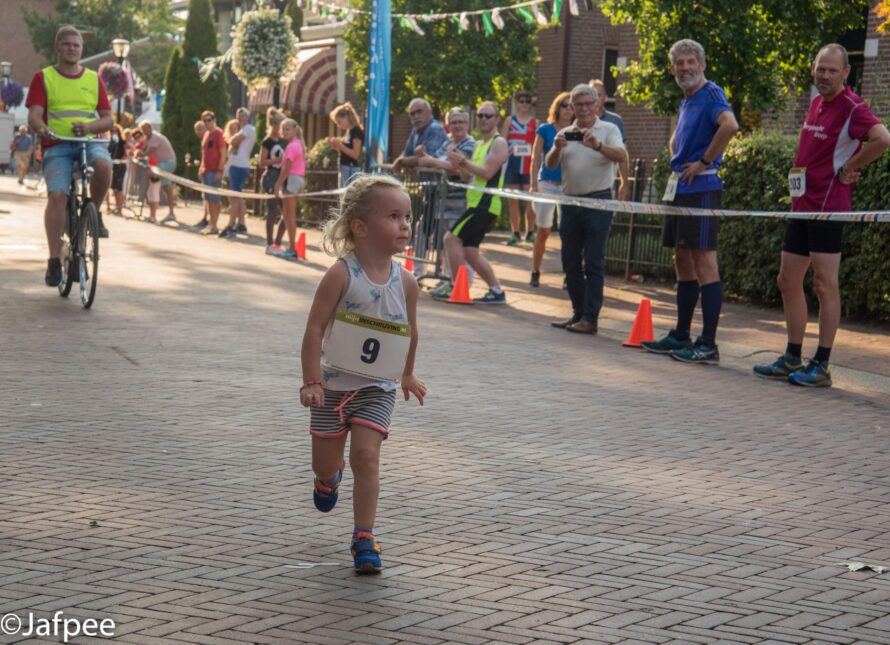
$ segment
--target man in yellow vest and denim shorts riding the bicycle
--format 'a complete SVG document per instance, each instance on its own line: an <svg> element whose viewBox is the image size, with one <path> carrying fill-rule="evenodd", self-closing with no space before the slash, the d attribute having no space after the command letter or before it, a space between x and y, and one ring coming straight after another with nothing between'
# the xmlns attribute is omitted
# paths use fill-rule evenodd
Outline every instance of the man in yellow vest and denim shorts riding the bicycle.
<svg viewBox="0 0 890 645"><path fill-rule="evenodd" d="M80 157L80 147L71 142L53 141L50 134L62 137L94 137L111 129L111 103L99 75L81 67L83 37L68 25L56 32L55 65L45 67L34 75L28 89L28 125L41 138L43 175L49 194L44 216L49 261L46 284L57 286L62 281L62 233L65 231L65 206L71 185L74 164ZM90 182L90 194L98 208L105 200L111 183L111 155L105 144L87 145L87 161L95 171ZM99 214L99 235L108 237L108 230Z"/></svg>

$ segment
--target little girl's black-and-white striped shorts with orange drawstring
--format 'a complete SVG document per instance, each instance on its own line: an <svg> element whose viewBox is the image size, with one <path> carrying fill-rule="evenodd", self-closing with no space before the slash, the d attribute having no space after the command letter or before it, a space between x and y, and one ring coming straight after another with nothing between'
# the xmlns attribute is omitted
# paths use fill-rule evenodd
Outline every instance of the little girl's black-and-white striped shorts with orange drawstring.
<svg viewBox="0 0 890 645"><path fill-rule="evenodd" d="M386 438L396 407L395 391L378 387L361 390L324 390L324 405L311 407L309 433L316 437L342 437L352 424L376 430Z"/></svg>

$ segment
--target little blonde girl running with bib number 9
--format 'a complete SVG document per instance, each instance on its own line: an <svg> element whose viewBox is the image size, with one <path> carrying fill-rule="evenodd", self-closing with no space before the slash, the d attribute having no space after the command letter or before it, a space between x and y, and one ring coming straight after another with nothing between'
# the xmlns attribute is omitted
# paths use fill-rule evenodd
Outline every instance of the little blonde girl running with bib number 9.
<svg viewBox="0 0 890 645"><path fill-rule="evenodd" d="M405 400L423 405L426 385L414 375L417 298L414 276L393 259L411 240L411 200L384 175L358 175L322 246L339 258L321 279L303 336L300 402L311 409L313 501L322 513L337 503L347 434L355 476L352 556L359 573L382 570L374 520L380 492L380 446L401 381Z"/></svg>

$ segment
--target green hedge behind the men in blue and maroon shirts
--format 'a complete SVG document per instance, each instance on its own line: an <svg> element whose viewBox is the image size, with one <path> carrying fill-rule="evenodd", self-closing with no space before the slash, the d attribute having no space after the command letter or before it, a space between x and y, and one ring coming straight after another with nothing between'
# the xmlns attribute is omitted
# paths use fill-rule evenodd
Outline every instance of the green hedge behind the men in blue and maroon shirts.
<svg viewBox="0 0 890 645"><path fill-rule="evenodd" d="M790 207L788 169L797 137L758 130L736 137L726 150L720 176L723 207L783 211ZM666 163L659 156L656 185L663 190ZM660 192L658 193L660 194ZM868 166L853 190L854 210L890 207L890 154ZM757 304L781 306L776 286L786 223L760 218L724 218L720 224L720 277L728 294ZM847 316L890 322L890 224L848 224L840 271ZM810 284L807 293L815 303Z"/></svg>

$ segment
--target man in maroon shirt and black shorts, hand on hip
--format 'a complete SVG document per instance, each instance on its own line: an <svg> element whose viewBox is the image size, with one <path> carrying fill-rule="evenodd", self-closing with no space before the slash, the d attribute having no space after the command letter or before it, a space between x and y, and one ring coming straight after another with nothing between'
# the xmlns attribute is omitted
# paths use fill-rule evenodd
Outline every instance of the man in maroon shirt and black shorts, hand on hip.
<svg viewBox="0 0 890 645"><path fill-rule="evenodd" d="M861 98L844 86L850 74L847 50L826 45L813 63L818 91L800 132L794 168L788 174L791 210L844 212L852 210L853 184L860 170L890 147L890 133ZM779 288L785 305L788 346L769 365L757 365L758 376L788 380L795 385L831 385L828 358L841 319L838 271L841 265L842 222L792 219L782 244ZM819 347L804 366L801 360L807 328L803 280L813 267L813 287L819 298Z"/></svg>

